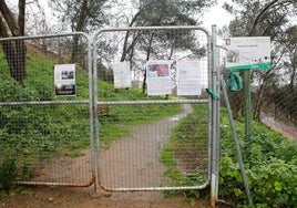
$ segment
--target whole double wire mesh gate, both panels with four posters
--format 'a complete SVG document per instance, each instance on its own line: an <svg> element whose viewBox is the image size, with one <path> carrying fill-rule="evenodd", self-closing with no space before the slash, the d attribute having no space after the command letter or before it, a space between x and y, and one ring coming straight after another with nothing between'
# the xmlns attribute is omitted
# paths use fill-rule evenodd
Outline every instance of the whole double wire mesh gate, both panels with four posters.
<svg viewBox="0 0 297 208"><path fill-rule="evenodd" d="M17 158L19 184L171 190L217 179L215 40L203 28L103 29L93 41L69 33L0 44L0 159Z"/></svg>

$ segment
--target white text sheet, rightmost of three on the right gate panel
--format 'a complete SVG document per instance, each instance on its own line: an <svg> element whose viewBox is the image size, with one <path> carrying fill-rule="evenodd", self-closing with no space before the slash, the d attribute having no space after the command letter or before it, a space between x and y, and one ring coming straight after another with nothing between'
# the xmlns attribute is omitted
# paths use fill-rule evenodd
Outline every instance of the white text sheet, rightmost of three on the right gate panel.
<svg viewBox="0 0 297 208"><path fill-rule="evenodd" d="M177 95L201 95L199 61L180 61L176 69Z"/></svg>

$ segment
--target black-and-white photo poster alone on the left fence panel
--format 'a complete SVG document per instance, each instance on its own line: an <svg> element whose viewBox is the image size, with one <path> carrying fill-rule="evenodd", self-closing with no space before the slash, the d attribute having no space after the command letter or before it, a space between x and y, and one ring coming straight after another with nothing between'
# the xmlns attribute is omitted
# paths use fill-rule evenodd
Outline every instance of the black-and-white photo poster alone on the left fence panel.
<svg viewBox="0 0 297 208"><path fill-rule="evenodd" d="M75 64L54 65L54 90L58 96L75 95Z"/></svg>

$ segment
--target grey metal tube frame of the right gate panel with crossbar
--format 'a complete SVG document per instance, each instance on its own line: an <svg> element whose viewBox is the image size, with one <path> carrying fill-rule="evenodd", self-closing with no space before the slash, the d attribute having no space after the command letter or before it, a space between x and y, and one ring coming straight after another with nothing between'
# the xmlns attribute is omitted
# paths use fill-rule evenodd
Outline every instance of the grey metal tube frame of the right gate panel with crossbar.
<svg viewBox="0 0 297 208"><path fill-rule="evenodd" d="M205 181L205 184L201 185L201 186L192 186L192 187L146 187L146 188L115 188L115 189L106 189L106 187L103 187L99 180L99 176L100 176L100 125L99 125L99 110L98 110L98 105L100 104L121 104L121 105L124 105L124 104L141 104L142 102L135 102L135 101L131 101L131 102L99 102L99 91L98 91L98 70L96 70L96 58L98 58L98 54L96 54L96 51L94 50L94 46L95 46L95 41L98 39L98 37L104 32L119 32L119 31L141 31L141 30L185 30L185 29L192 29L192 30L199 30L199 31L203 31L207 38L207 65L208 65L208 84L209 84L209 75L212 74L209 71L211 69L211 63L209 61L212 60L209 56L211 56L211 34L209 32L204 29L204 28L201 28L201 27L195 27L195 25L178 25L178 27L136 27L136 28L106 28L106 29L101 29L98 33L95 33L95 35L93 37L93 41L92 41L92 46L93 46L93 94L94 94L94 124L95 124L95 145L96 145L96 149L95 149L95 153L96 153L96 187L101 187L102 189L104 190L114 190L114 191L122 191L122 190L130 190L130 191L136 191L136 190L173 190L173 189L176 189L176 190L181 190L181 189L203 189L203 188L206 188L208 185L209 185L209 181L211 181L211 165L212 165L212 160L211 160L211 157L213 156L212 153L211 153L211 139L208 137L208 169L207 169L207 179ZM165 103L164 101L145 101L143 102L145 104L162 104L162 103ZM211 101L209 100L203 100L203 101L195 101L195 100L190 100L187 102L185 101L182 101L182 100L176 100L176 101L171 101L171 102L166 102L166 103L209 103L211 104ZM209 106L209 105L208 105ZM211 110L211 107L209 107ZM209 113L209 116L211 116L211 113ZM211 117L209 117L211 119ZM209 122L211 123L211 122ZM213 125L209 125L208 127L208 136L212 135L211 132L213 128ZM99 189L96 190L99 191Z"/></svg>

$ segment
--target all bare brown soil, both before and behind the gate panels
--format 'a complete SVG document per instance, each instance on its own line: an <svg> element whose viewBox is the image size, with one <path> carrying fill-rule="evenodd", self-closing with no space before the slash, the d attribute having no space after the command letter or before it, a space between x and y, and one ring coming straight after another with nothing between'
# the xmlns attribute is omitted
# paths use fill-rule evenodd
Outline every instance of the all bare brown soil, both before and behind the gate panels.
<svg viewBox="0 0 297 208"><path fill-rule="evenodd" d="M153 124L142 125L132 129L130 138L114 142L109 148L101 152L100 163L102 184L110 190L120 187L155 187L167 181L164 177L165 167L160 162L160 153L166 144L172 128L178 121L190 114L190 105L183 105L183 113L167 117ZM150 133L156 133L153 136ZM150 139L144 139L150 137ZM90 175L90 154L76 158L57 158L55 162L42 164L35 181L45 179L59 180L71 178L65 175L69 169L85 169ZM140 163L140 158L142 158ZM63 163L62 163L63 162ZM81 163L82 162L82 163ZM62 164L62 165L61 165ZM51 174L52 169L59 167L59 173ZM183 168L183 167L181 167ZM156 171L157 169L157 171ZM85 179L85 178L84 178ZM79 180L83 180L79 178ZM86 181L89 179L86 178ZM11 197L0 199L0 207L9 208L51 208L51 207L209 207L209 199L198 199L188 202L184 196L166 198L162 191L94 191L94 187L59 187L37 186L24 187L22 191Z"/></svg>

